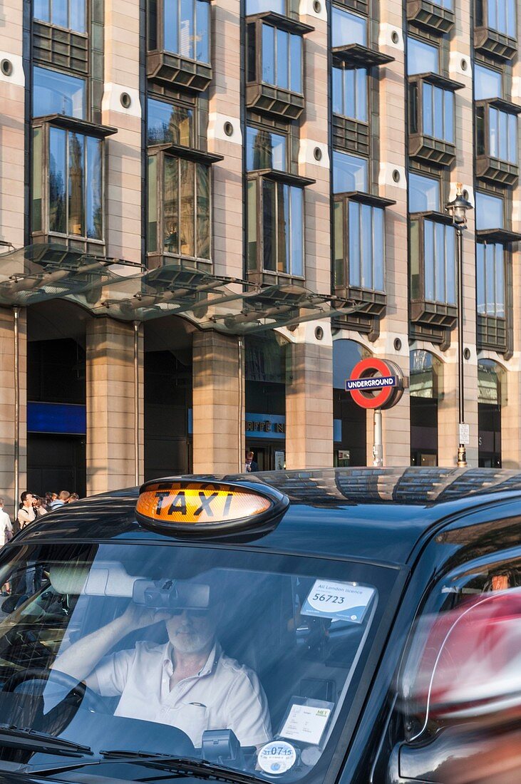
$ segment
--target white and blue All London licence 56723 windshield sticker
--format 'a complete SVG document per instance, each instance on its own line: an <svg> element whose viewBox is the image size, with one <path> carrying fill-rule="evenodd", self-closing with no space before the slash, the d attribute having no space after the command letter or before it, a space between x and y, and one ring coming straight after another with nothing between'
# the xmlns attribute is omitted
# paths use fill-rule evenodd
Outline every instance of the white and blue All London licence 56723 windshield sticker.
<svg viewBox="0 0 521 784"><path fill-rule="evenodd" d="M300 614L361 623L373 597L374 588L368 586L316 580Z"/></svg>

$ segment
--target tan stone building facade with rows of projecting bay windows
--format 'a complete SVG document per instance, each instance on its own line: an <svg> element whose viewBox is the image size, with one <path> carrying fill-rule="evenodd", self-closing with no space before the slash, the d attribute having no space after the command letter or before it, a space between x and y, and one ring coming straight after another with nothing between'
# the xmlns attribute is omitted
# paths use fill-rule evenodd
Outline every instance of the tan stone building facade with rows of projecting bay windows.
<svg viewBox="0 0 521 784"><path fill-rule="evenodd" d="M0 491L521 464L516 0L6 0ZM464 233L463 313L456 183Z"/></svg>

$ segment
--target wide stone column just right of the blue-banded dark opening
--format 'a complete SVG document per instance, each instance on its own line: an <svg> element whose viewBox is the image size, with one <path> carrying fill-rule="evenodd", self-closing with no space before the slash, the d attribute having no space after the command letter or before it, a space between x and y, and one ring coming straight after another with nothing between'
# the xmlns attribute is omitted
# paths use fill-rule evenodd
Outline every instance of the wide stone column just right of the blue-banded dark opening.
<svg viewBox="0 0 521 784"><path fill-rule="evenodd" d="M143 479L143 335L139 335L139 481ZM135 478L134 327L110 318L87 325L87 494Z"/></svg>

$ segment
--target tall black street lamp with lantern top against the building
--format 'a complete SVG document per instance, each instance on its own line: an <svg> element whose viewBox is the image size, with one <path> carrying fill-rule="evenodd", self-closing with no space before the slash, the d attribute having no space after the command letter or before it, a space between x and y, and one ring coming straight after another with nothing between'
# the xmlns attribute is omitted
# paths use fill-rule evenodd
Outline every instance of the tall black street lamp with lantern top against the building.
<svg viewBox="0 0 521 784"><path fill-rule="evenodd" d="M461 183L456 186L456 198L445 205L456 230L456 267L458 270L458 393L459 393L459 446L458 468L466 468L467 451L461 425L465 424L465 374L463 369L463 230L467 227L467 211L472 209L470 201L463 196Z"/></svg>

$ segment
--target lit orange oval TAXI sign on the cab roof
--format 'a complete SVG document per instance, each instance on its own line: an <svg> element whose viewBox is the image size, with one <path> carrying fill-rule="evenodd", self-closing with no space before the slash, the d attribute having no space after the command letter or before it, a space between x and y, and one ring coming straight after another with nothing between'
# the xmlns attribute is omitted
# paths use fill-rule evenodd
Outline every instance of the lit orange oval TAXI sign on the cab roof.
<svg viewBox="0 0 521 784"><path fill-rule="evenodd" d="M256 527L274 517L288 499L273 488L222 482L161 480L139 492L136 517L146 527L190 534ZM284 503L285 501L285 503Z"/></svg>

